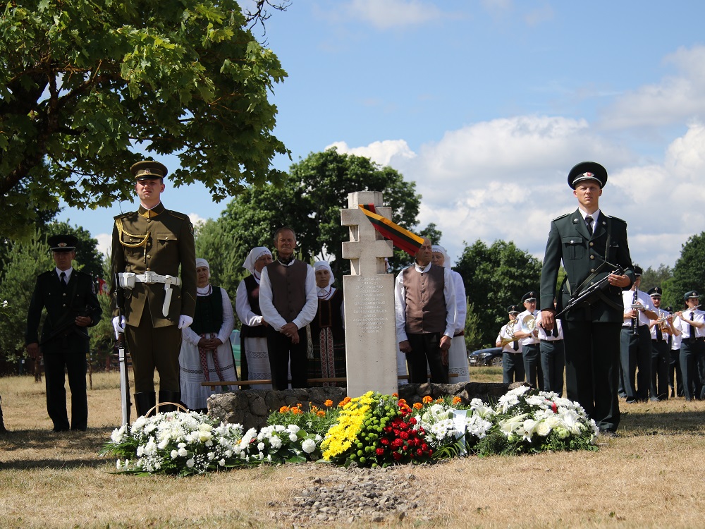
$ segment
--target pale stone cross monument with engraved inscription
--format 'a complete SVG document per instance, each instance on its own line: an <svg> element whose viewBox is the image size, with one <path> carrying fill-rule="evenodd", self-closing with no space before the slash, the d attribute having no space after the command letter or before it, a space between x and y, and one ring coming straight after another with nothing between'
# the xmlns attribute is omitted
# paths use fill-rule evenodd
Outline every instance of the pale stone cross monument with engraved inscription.
<svg viewBox="0 0 705 529"><path fill-rule="evenodd" d="M394 276L386 273L384 262L393 255L393 245L374 229L360 204L374 204L376 213L388 219L392 213L391 207L382 207L380 191L349 193L348 209L341 209L341 224L350 227L350 242L343 242L343 258L350 259L351 269L343 277L350 397L398 391Z"/></svg>

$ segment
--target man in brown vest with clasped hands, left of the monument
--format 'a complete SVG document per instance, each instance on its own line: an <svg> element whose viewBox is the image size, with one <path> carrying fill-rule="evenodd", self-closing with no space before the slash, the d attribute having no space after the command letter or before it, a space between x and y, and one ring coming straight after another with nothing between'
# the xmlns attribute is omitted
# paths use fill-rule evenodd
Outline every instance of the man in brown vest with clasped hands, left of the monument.
<svg viewBox="0 0 705 529"><path fill-rule="evenodd" d="M307 344L305 327L318 310L316 274L311 266L294 258L296 234L288 227L274 233L277 260L262 270L259 281L259 308L266 328L271 385L287 389L307 385Z"/></svg>

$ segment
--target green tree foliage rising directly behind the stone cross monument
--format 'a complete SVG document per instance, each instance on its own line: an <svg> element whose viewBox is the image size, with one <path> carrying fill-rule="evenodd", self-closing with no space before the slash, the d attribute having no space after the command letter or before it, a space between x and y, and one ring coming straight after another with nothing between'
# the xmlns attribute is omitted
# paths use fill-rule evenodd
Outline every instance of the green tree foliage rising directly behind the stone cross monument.
<svg viewBox="0 0 705 529"><path fill-rule="evenodd" d="M237 288L247 274L242 265L250 249L266 246L274 253L274 231L290 226L296 232L299 257L307 262L314 257L329 260L341 285L343 274L350 273L350 262L341 258L341 243L350 239L349 229L341 226L341 208L348 207L348 193L365 190L384 193L393 221L413 231L421 199L415 183L369 158L330 149L293 164L281 187L248 188L240 193L217 221L198 231L197 253L208 260L212 275L232 296L234 290L228 284L232 281ZM410 257L404 255L391 258L391 265L398 269L402 260L407 264Z"/></svg>

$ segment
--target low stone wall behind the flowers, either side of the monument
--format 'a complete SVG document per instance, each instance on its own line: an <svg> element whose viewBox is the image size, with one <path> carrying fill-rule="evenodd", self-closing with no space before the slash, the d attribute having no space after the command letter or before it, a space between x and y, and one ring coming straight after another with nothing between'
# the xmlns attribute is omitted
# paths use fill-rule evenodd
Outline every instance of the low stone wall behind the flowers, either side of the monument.
<svg viewBox="0 0 705 529"><path fill-rule="evenodd" d="M525 385L523 382L499 384L486 382L462 382L460 384L404 384L399 387L399 398L405 399L411 406L421 402L424 396L439 399L443 396L459 396L462 403L470 404L472 399L481 399L486 403L496 403L510 389ZM250 389L231 393L214 394L208 398L208 415L214 419L231 424L240 423L245 431L250 428L262 428L273 411L282 406L303 405L307 411L309 403L326 409L324 402L333 401L333 406L345 399L345 388L314 387L305 389Z"/></svg>

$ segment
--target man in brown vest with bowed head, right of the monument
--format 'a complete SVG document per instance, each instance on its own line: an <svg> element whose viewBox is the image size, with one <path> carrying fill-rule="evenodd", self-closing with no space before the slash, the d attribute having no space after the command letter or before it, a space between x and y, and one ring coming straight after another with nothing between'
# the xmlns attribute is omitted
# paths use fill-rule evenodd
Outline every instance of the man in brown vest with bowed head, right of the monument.
<svg viewBox="0 0 705 529"><path fill-rule="evenodd" d="M399 272L394 285L399 350L406 353L409 382L448 384L448 349L455 332L455 288L450 269L431 263L431 241L416 253L414 265Z"/></svg>

